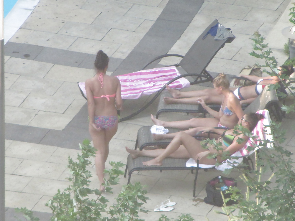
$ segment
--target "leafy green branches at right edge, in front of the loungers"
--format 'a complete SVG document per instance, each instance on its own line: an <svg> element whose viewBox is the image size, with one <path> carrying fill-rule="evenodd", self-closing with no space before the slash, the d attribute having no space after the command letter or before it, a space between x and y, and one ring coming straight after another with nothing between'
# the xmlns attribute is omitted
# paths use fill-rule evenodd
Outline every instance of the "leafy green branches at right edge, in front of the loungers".
<svg viewBox="0 0 295 221"><path fill-rule="evenodd" d="M268 69L264 69L264 72L271 76L277 75L274 71L277 62L271 55L272 51L267 48L268 44L264 44L265 39L256 32L252 40L255 45L250 55L264 60L265 64L261 66ZM275 86L273 89L276 89ZM285 86L290 90L290 85L285 84ZM294 105L283 105L282 109L294 111ZM230 199L239 202L228 207L224 204L223 212L217 212L227 215L228 220L295 220L295 171L291 157L293 154L282 146L286 139L281 123L271 123L269 127L273 141L260 143L259 146L253 144L253 148L260 148L259 153L255 152L255 169L250 171L232 165L241 172L240 179L244 182L246 190L245 193L236 187L228 190L232 193ZM245 134L249 133L242 128L239 130ZM272 148L266 147L268 143L272 144ZM229 199L224 199L226 200Z"/></svg>

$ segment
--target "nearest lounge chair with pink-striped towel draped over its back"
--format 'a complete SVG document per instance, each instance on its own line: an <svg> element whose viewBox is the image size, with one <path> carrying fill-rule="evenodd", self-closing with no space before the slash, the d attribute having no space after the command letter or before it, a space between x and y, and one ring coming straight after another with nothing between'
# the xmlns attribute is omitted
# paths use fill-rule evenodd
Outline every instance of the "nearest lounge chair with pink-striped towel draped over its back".
<svg viewBox="0 0 295 221"><path fill-rule="evenodd" d="M253 142L255 144L258 144L262 141L262 143L265 140L272 141L272 136L270 135L270 128L266 127L264 132L264 125L270 125L270 117L268 110L260 110L257 113L261 113L265 116L265 119L261 120L258 125L254 128L253 133L254 136L258 136L258 139L253 141L252 139L249 139L247 144L240 149L239 151L232 154L232 156L235 157L235 159L230 159L227 161L224 161L223 164L216 167L218 170L224 171L225 169L230 169L234 166L237 166L242 162L243 159L249 159L249 156L253 154L257 149L259 149L259 145L256 149L249 148L248 146L252 147ZM268 144L268 147L270 145ZM149 161L153 159L152 157L146 157L146 156L140 156L135 159L132 159L131 155L129 154L127 157L127 164L125 169L124 177L127 175L128 171L128 182L130 183L131 175L134 171L142 171L142 170L196 170L195 179L194 179L194 188L193 188L193 197L196 196L196 181L198 177L198 171L199 169L214 169L215 165L206 165L206 164L199 164L198 162L195 162L193 159L175 159L175 158L166 158L163 160L162 166L145 166L142 164L143 161Z"/></svg>

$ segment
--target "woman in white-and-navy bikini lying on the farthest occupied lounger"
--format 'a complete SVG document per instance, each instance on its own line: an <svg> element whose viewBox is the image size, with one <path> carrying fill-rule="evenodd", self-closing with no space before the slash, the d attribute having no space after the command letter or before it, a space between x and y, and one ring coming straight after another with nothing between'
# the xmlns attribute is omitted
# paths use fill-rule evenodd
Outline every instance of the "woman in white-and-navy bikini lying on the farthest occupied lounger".
<svg viewBox="0 0 295 221"><path fill-rule="evenodd" d="M294 69L291 66L282 65L278 67L278 75L290 76ZM240 77L245 77L251 81L257 82L256 85L250 85L239 88L230 88L233 91L234 95L240 100L240 104L249 104L258 95L262 92L262 89L265 85L268 84L277 84L280 82L280 79L277 76L268 76L268 77L257 77L250 75L241 75ZM239 85L240 80L236 79L234 85ZM205 90L194 90L194 91L178 91L166 86L167 90L173 98L164 97L164 101L167 104L172 103L184 103L184 104L198 104L197 99L201 98L205 103L212 104L221 104L223 97L218 94L214 89L205 89Z"/></svg>

